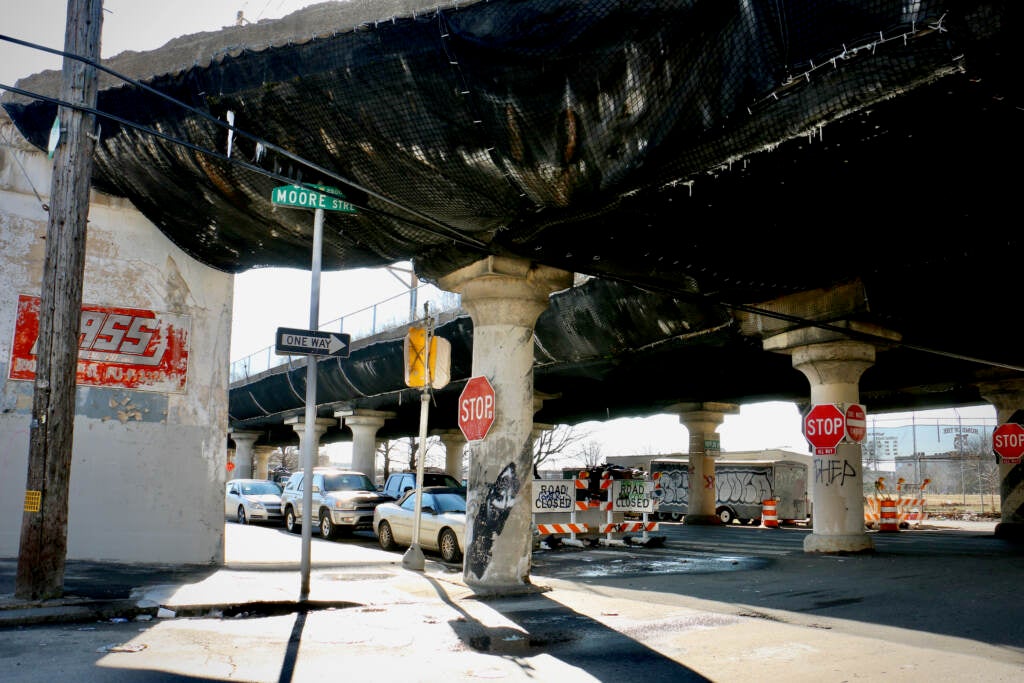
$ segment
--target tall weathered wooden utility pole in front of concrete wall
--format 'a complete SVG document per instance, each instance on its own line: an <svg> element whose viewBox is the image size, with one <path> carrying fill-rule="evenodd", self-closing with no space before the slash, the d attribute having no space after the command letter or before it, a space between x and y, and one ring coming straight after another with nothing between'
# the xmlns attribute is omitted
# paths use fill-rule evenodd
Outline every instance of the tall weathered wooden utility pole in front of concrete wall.
<svg viewBox="0 0 1024 683"><path fill-rule="evenodd" d="M68 0L65 52L98 62L102 4L102 0ZM97 88L95 67L65 57L61 100L95 109ZM32 600L63 595L75 375L96 130L91 114L59 108L58 118L60 138L53 153L29 474L14 584L17 597Z"/></svg>

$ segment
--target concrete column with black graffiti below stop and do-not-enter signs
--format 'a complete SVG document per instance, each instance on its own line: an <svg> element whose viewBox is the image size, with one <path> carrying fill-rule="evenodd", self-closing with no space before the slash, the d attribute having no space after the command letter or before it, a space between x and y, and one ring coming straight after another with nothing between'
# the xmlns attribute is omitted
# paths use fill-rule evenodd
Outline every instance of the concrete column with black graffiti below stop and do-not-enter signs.
<svg viewBox="0 0 1024 683"><path fill-rule="evenodd" d="M874 326L855 323L851 330L898 339ZM860 402L860 376L874 365L876 346L853 341L838 331L804 328L764 341L769 351L788 353L793 367L811 384L811 403ZM813 531L805 552L870 552L874 542L864 528L864 471L859 443L840 443L835 455L815 456L811 466Z"/></svg>

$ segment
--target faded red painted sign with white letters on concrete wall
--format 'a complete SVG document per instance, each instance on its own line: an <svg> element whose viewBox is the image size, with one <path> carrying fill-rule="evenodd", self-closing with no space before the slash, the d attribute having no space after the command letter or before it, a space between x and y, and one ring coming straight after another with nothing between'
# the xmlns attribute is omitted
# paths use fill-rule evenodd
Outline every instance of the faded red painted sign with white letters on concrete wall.
<svg viewBox="0 0 1024 683"><path fill-rule="evenodd" d="M182 393L188 374L187 315L82 305L78 384ZM17 297L10 350L12 380L36 378L39 297Z"/></svg>

